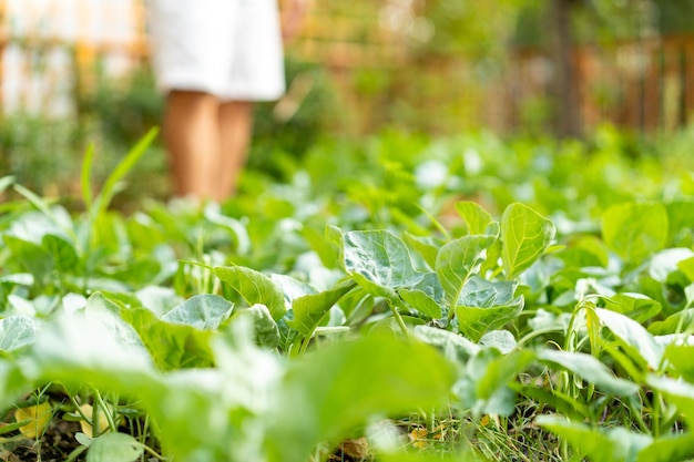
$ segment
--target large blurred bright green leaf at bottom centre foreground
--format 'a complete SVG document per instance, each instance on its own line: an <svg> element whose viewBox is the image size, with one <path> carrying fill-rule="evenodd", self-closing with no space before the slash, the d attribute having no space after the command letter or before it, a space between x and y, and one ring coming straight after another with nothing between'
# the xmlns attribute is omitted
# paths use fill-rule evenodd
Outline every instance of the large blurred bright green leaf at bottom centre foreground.
<svg viewBox="0 0 694 462"><path fill-rule="evenodd" d="M433 348L411 339L372 335L325 346L284 377L266 433L267 460L304 462L319 442L340 441L374 417L439 405L453 378Z"/></svg>

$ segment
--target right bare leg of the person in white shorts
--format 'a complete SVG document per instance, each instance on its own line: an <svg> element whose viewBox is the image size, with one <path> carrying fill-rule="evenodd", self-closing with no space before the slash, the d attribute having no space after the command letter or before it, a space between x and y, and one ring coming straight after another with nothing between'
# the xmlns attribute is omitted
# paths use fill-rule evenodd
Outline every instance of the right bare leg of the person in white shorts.
<svg viewBox="0 0 694 462"><path fill-rule="evenodd" d="M221 154L215 197L224 201L236 192L238 175L246 163L253 131L253 103L232 101L220 106Z"/></svg>

